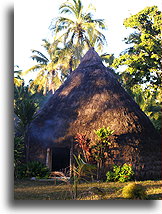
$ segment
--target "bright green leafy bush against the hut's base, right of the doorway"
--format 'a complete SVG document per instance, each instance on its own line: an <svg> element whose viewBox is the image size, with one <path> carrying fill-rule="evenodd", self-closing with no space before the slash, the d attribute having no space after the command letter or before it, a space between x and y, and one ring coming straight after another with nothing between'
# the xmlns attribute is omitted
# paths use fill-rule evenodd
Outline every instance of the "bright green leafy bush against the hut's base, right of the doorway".
<svg viewBox="0 0 162 214"><path fill-rule="evenodd" d="M119 181L127 182L133 179L133 167L131 164L123 164L123 166L113 166L113 171L108 171L106 173L107 182L109 181Z"/></svg>

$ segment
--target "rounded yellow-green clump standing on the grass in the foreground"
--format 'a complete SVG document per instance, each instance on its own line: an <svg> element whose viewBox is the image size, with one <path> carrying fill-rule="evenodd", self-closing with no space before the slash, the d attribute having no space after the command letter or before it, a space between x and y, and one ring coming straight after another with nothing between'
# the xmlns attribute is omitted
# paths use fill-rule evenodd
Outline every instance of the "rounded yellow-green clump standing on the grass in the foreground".
<svg viewBox="0 0 162 214"><path fill-rule="evenodd" d="M128 184L123 188L122 195L127 199L146 199L146 189L140 184Z"/></svg>

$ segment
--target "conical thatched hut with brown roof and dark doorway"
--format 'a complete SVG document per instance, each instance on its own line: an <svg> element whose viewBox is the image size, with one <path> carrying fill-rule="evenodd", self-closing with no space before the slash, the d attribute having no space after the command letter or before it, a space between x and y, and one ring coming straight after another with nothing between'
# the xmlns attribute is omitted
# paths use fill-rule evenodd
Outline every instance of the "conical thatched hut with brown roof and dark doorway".
<svg viewBox="0 0 162 214"><path fill-rule="evenodd" d="M95 140L94 130L103 126L114 130L113 158L105 166L132 163L136 179L162 178L160 136L91 48L31 123L29 159L64 168L76 134Z"/></svg>

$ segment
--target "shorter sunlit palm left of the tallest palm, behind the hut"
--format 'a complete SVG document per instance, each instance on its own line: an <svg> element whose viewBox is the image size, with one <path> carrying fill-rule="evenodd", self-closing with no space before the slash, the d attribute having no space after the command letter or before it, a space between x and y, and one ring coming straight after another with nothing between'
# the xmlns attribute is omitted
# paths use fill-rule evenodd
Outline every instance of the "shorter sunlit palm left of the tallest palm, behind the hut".
<svg viewBox="0 0 162 214"><path fill-rule="evenodd" d="M63 70L64 59L62 51L57 47L58 41L54 41L52 44L47 40L43 40L43 47L49 54L49 58L38 50L32 50L33 55L31 58L37 62L34 66L23 72L23 75L29 72L38 72L34 80L30 82L30 89L32 90L37 86L37 91L43 90L43 94L47 91L54 91L62 84L59 77L60 69ZM65 63L64 63L65 69Z"/></svg>

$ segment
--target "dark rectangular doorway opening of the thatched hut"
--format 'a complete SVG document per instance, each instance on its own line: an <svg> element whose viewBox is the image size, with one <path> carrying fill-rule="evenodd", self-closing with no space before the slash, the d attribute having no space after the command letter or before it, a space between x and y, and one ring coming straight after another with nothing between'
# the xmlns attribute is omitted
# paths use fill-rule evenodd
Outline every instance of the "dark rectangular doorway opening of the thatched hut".
<svg viewBox="0 0 162 214"><path fill-rule="evenodd" d="M52 149L52 171L60 171L70 166L70 149Z"/></svg>

